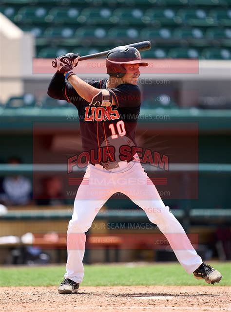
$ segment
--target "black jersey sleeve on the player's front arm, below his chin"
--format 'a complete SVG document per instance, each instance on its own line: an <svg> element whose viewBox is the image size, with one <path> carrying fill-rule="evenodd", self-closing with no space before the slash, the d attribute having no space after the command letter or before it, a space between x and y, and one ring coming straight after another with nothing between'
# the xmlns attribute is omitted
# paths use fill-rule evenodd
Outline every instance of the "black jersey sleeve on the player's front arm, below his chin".
<svg viewBox="0 0 231 312"><path fill-rule="evenodd" d="M141 94L139 87L131 84L121 84L113 89L107 89L111 92L116 108L136 108L141 104Z"/></svg>

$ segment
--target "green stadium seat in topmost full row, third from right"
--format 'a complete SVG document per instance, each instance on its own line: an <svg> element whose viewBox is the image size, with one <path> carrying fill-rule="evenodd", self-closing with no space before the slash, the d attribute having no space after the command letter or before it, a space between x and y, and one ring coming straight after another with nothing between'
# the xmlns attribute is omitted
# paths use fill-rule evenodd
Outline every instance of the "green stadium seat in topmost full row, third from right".
<svg viewBox="0 0 231 312"><path fill-rule="evenodd" d="M176 18L175 10L168 8L154 8L145 12L144 23L159 25L178 25L181 20Z"/></svg>

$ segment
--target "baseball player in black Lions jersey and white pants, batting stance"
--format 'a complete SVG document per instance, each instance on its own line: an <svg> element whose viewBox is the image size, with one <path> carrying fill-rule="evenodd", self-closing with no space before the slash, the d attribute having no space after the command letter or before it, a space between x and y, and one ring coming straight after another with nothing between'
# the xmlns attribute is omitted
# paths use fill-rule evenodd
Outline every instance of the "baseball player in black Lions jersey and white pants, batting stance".
<svg viewBox="0 0 231 312"><path fill-rule="evenodd" d="M72 69L79 55L68 53L58 57L58 71L53 76L48 95L74 104L78 110L84 151L90 155L74 202L74 212L67 231L67 264L59 294L78 291L83 280L85 232L91 227L97 212L116 192L127 195L141 207L168 239L185 271L207 283L219 283L222 275L202 262L183 227L162 202L154 184L147 183L147 173L139 161L136 149L119 158L118 150L136 147L135 128L140 110L140 90L137 86L139 67L148 66L137 49L120 46L106 57L109 79L83 81ZM100 181L100 183L99 183ZM121 183L123 181L123 183ZM137 181L131 185L130 181ZM142 183L145 181L145 183ZM151 181L151 180L150 180ZM127 182L127 183L126 183Z"/></svg>

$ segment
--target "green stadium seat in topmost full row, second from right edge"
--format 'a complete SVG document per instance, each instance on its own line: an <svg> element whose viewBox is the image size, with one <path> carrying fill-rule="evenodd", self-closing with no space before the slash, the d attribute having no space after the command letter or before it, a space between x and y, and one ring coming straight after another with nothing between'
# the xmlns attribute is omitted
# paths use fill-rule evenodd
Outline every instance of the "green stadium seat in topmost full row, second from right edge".
<svg viewBox="0 0 231 312"><path fill-rule="evenodd" d="M216 20L202 9L184 9L177 12L184 24L189 26L215 26Z"/></svg>

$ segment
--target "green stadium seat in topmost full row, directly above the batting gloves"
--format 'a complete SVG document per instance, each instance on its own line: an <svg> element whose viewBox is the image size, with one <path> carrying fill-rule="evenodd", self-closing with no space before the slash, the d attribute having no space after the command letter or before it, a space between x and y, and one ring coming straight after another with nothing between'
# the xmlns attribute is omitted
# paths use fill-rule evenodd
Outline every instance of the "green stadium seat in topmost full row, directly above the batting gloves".
<svg viewBox="0 0 231 312"><path fill-rule="evenodd" d="M78 7L58 7L49 11L47 19L56 24L77 24L80 12Z"/></svg>

